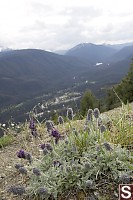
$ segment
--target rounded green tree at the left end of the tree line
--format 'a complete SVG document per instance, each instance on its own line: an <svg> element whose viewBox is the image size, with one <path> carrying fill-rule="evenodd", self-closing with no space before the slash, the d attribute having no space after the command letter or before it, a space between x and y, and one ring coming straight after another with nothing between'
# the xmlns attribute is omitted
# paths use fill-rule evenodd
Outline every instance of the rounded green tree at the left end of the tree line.
<svg viewBox="0 0 133 200"><path fill-rule="evenodd" d="M81 115L84 116L89 108L93 109L96 107L96 105L97 105L96 97L90 90L87 90L84 93L80 103Z"/></svg>

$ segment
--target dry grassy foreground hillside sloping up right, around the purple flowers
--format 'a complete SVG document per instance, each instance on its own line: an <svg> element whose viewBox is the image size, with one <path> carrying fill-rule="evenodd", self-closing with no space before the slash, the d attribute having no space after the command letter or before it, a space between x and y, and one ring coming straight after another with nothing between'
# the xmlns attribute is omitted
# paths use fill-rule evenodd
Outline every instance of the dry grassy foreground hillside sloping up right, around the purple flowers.
<svg viewBox="0 0 133 200"><path fill-rule="evenodd" d="M92 180L92 178L95 179L95 173L97 173L97 175L96 175L97 178L95 180L96 182L94 182L96 187L92 187L91 190L89 189L89 187L86 188L85 193L82 191L82 189L78 189L78 190L76 190L76 192L73 190L73 186L76 185L76 187L79 187L78 181L80 180L80 177L78 176L77 180L73 179L74 184L75 184L75 185L73 185L73 182L71 182L71 178L70 178L71 176L67 176L67 173L71 175L71 171L69 170L67 173L64 172L66 179L68 179L67 182L62 183L61 182L62 179L61 179L59 182L57 181L56 184L60 184L60 187L61 187L61 184L63 184L64 188L66 188L67 184L69 185L70 195L68 196L68 200L70 200L70 199L74 200L75 197L77 198L77 200L84 200L86 195L88 198L92 198L92 196L93 196L93 199L96 199L96 200L100 200L100 199L116 200L116 199L118 199L119 181L121 180L123 183L127 183L127 182L125 182L125 180L129 181L128 176L130 174L130 170L128 169L127 165L124 164L124 162L126 162L126 163L129 162L128 165L130 165L130 167L133 169L133 162L132 162L133 154L132 154L132 156L130 156L130 152L132 152L132 150L133 150L133 135L132 135L132 133L133 133L133 118L132 118L132 116L133 116L133 103L130 105L127 105L127 106L123 105L122 108L117 108L117 109L111 110L109 112L102 113L100 115L99 119L100 120L102 119L102 122L104 123L104 125L106 125L106 128L107 128L107 125L109 125L108 120L111 120L111 124L108 127L109 129L107 131L105 131L105 133L102 133L102 137L100 140L98 140L98 138L97 138L98 137L97 134L99 134L97 132L98 130L96 129L95 130L96 132L94 132L93 128L91 127L91 123L89 123L88 126L93 131L93 134L91 132L89 132L89 134L88 134L89 129L87 129L86 131L84 130L84 132L82 132L84 129L84 125L85 125L85 119L82 121L81 120L70 121L69 123L65 123L64 125L55 125L56 129L58 129L60 134L62 136L65 136L65 138L64 138L65 141L68 141L68 144L65 142L66 150L67 150L67 148L70 148L69 144L71 144L71 143L69 143L69 142L70 141L72 142L73 140L75 141L77 151L79 151L79 149L80 150L83 150L84 148L86 149L85 152L83 150L83 154L80 154L80 156L77 153L75 154L75 160L79 159L80 160L79 163L80 162L84 163L85 161L87 162L87 160L89 161L90 158L93 158L93 153L95 152L95 148L99 148L100 145L105 143L105 141L106 141L106 143L111 145L111 148L115 148L115 151L113 151L113 150L105 151L103 149L102 155L101 154L97 155L97 156L106 156L106 157L105 157L105 160L102 160L102 161L104 161L103 164L102 164L102 162L100 162L101 164L98 164L99 162L97 162L97 165L95 165L93 167L94 170L93 170L93 174L91 174L91 180ZM94 119L93 123L95 124L95 119ZM3 147L0 149L0 188L1 188L0 189L0 198L4 199L4 200L22 200L22 196L19 197L17 195L12 195L11 193L7 193L7 190L10 186L15 186L15 185L22 186L23 185L25 187L28 187L28 184L30 184L30 187L31 187L34 185L34 187L35 187L34 192L36 193L37 192L36 187L39 187L39 184L40 184L39 181L38 181L38 183L36 182L37 180L39 180L39 176L36 176L36 177L35 177L35 175L33 176L32 171L30 171L31 168L38 166L38 167L40 167L40 170L42 171L43 168L45 168L45 162L47 162L47 165L48 165L49 161L47 159L50 159L49 158L50 156L52 156L52 160L53 159L55 161L57 161L56 159L60 160L60 157L58 157L58 154L60 151L63 151L62 148L64 148L63 147L64 139L60 140L59 144L54 145L54 143L53 143L54 140L52 140L51 136L49 136L48 132L46 131L45 124L38 123L36 121L36 128L37 128L37 132L39 134L39 136L37 138L34 138L31 135L30 130L29 130L29 124L27 124L27 122L25 124L22 124L20 128L21 128L21 131L19 131L19 132L17 132L17 129L13 129L13 128L10 128L10 130L7 131L7 135L12 135L14 137L14 142L9 144L7 147ZM75 135L76 134L76 132L74 132L75 128L78 131L78 135ZM84 133L83 134L84 137L83 137L82 133ZM81 144L79 143L82 138L81 136L84 138L84 140L82 141L83 142L82 147L80 147ZM76 138L78 139L77 141L76 141ZM69 139L70 139L70 141L69 141ZM89 145L87 145L88 144L87 142L89 142ZM48 156L49 156L48 157L47 155L43 154L43 152L40 150L39 144L44 144L44 143L45 144L50 143L51 145L53 145L54 151L56 151L56 153L57 153L57 154L54 154L54 157L50 153L48 154ZM116 147L113 146L113 143L116 145ZM1 144L1 140L0 140L0 144ZM117 147L117 144L118 144L118 147ZM120 144L124 148L120 148ZM87 147L86 147L86 145L87 145ZM17 157L16 153L20 149L24 149L26 152L30 152L30 154L32 155L32 158L33 158L32 165L30 165L28 163L28 161L26 161L25 159L20 159ZM89 157L87 156L87 151L89 151L89 149L93 150L91 157L90 157L90 154L89 154ZM126 149L128 149L128 151ZM103 155L103 152L105 153L105 155ZM106 153L107 153L107 155L106 155ZM82 157L84 158L84 154L86 155L87 160L82 159ZM127 154L128 154L128 160L126 160ZM66 154L63 154L63 155L64 155L64 158L66 158L65 157ZM77 155L79 156L78 158L77 158ZM69 159L72 162L73 157L71 157L71 156L73 156L73 155L70 154ZM111 161L109 160L109 156L111 157ZM117 156L117 159L113 160L115 158L115 156ZM104 157L98 157L98 158L104 159ZM45 159L45 162L43 159ZM124 162L122 159L124 160ZM75 160L73 162L75 162ZM95 163L96 160L97 160L97 158L95 158L92 162ZM119 162L121 163L121 165L119 165L119 167L117 169L118 172L120 172L120 174L116 170L116 168L117 168L117 166L115 165L116 161L118 163ZM15 165L18 164L19 162L21 162L21 164L23 164L24 167L28 170L28 174L21 174L19 172L19 170L15 168ZM43 166L41 166L40 164L43 162L44 162L44 164L43 164ZM61 161L61 162L63 162L63 161ZM68 160L67 160L67 162L69 163ZM64 165L67 165L67 162L64 163ZM80 166L79 163L78 163L78 167L81 167L82 165ZM91 164L93 164L93 163L91 163ZM106 165L110 168L111 171L107 170ZM102 167L102 168L100 168L100 167ZM127 167L127 169L125 167ZM126 171L123 171L125 169L126 169ZM57 174L58 170L60 171L60 167L59 166L57 166L55 168L51 167L51 170L55 170L55 172ZM82 170L80 170L80 176L82 174L81 173ZM91 168L89 170L91 170ZM74 171L72 171L72 173L74 173ZM106 173L108 174L108 176ZM126 175L124 173L126 173ZM114 175L115 179L114 179L114 177L112 178L113 175ZM122 175L125 175L126 179L124 179L124 176L122 176ZM129 182L133 183L133 174L131 173L130 175L131 175L132 179ZM33 178L32 178L32 176L33 176ZM48 174L46 176L48 176ZM53 182L54 182L55 181L54 174L51 174L49 176L51 176L51 180L53 178ZM48 181L49 181L49 176L47 177ZM31 179L31 182L30 182L30 179ZM58 180L58 176L56 177L56 179ZM83 177L83 179L85 179L85 181L87 180L85 177ZM69 180L70 180L70 182L69 182ZM42 181L44 181L44 180L42 179ZM107 182L110 187L107 187L107 184L106 184ZM105 187L105 184L106 184L106 187ZM46 182L43 184L43 187L45 185L46 185ZM51 187L52 187L52 185L51 185ZM67 189L66 189L66 192L67 192ZM104 194L104 196L103 196L103 194ZM64 200L64 198L66 198L66 196L63 196L63 195L66 195L66 193L62 192L58 199ZM24 199L27 199L27 198L24 198ZM45 198L43 198L43 199L45 199ZM35 200L36 200L36 198L35 198Z"/></svg>

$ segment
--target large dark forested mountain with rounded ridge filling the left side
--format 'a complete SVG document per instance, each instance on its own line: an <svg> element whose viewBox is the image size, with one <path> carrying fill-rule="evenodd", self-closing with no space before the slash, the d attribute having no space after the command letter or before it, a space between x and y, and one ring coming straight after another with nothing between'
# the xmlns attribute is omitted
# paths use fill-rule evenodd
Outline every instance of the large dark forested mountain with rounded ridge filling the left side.
<svg viewBox="0 0 133 200"><path fill-rule="evenodd" d="M0 107L73 84L88 70L83 61L51 52L25 49L0 53Z"/></svg>

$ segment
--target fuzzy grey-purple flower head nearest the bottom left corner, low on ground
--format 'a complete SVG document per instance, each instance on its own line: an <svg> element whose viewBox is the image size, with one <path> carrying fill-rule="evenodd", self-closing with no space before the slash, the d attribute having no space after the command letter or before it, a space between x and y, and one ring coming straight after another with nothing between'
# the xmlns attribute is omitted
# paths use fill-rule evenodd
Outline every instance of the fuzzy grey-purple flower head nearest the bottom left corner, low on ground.
<svg viewBox="0 0 133 200"><path fill-rule="evenodd" d="M13 186L12 185L7 189L7 192L12 193L14 195L22 196L26 191L23 186Z"/></svg>

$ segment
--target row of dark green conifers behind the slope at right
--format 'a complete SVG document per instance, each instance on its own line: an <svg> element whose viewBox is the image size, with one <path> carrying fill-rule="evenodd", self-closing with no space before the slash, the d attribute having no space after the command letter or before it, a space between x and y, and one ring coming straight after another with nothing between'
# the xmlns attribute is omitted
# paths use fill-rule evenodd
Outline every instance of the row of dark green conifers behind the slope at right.
<svg viewBox="0 0 133 200"><path fill-rule="evenodd" d="M80 112L84 116L89 108L100 108L101 111L107 111L118 107L121 103L133 101L133 59L128 74L121 82L107 90L106 97L98 100L92 91L85 91L81 102Z"/></svg>

